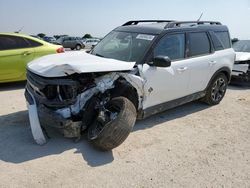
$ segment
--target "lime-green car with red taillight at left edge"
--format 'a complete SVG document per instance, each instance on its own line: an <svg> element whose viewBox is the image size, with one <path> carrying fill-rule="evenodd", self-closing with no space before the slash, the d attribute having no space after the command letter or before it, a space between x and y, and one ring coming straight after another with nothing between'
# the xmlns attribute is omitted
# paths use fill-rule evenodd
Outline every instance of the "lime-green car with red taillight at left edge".
<svg viewBox="0 0 250 188"><path fill-rule="evenodd" d="M62 52L62 46L31 36L0 33L0 83L26 80L28 62L44 55Z"/></svg>

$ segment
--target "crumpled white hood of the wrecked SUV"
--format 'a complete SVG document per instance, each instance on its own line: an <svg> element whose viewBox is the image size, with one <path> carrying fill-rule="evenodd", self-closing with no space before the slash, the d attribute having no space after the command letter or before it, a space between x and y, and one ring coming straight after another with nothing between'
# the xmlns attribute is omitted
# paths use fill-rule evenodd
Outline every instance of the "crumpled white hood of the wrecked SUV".
<svg viewBox="0 0 250 188"><path fill-rule="evenodd" d="M62 77L74 73L132 70L135 62L102 58L86 52L66 52L31 61L27 69L44 77Z"/></svg>

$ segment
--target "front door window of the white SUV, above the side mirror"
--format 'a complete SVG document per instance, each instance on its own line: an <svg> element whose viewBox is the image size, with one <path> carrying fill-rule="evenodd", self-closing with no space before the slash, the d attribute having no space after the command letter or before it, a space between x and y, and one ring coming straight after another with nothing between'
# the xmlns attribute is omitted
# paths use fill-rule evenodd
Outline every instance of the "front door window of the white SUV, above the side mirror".
<svg viewBox="0 0 250 188"><path fill-rule="evenodd" d="M171 60L184 59L185 34L172 34L163 37L154 50L154 56L168 56Z"/></svg>

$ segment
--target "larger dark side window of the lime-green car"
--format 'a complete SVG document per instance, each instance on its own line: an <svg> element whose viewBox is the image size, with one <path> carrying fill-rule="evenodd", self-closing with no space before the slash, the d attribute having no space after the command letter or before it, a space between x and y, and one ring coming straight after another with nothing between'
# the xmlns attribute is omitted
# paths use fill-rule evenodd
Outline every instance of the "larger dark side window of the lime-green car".
<svg viewBox="0 0 250 188"><path fill-rule="evenodd" d="M0 50L28 48L29 43L22 37L0 35Z"/></svg>

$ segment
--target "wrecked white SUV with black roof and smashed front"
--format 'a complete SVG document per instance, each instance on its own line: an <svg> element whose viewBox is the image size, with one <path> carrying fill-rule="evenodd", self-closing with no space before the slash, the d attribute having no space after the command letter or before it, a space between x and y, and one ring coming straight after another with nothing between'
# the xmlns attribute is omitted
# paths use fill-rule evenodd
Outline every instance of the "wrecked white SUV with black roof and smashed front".
<svg viewBox="0 0 250 188"><path fill-rule="evenodd" d="M27 67L25 96L33 137L41 127L88 139L102 150L120 145L136 119L225 95L235 60L219 22L130 21L89 53L49 55Z"/></svg>

